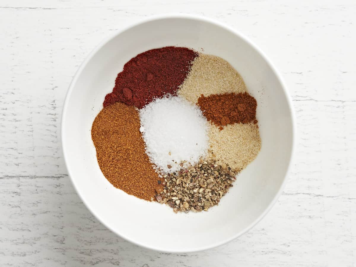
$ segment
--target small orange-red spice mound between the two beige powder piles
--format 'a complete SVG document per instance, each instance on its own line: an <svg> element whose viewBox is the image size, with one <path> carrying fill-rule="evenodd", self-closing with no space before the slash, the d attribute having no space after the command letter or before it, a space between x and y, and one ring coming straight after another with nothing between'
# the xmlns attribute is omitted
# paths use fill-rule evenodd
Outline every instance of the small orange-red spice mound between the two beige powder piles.
<svg viewBox="0 0 356 267"><path fill-rule="evenodd" d="M219 127L234 123L248 123L256 120L257 101L245 93L225 93L204 96L198 99L198 106L206 119Z"/></svg>

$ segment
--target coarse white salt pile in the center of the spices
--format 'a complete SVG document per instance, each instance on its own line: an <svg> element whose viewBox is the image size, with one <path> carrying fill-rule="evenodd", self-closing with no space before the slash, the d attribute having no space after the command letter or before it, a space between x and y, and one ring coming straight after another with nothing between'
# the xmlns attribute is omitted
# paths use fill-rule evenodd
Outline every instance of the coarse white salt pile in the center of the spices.
<svg viewBox="0 0 356 267"><path fill-rule="evenodd" d="M196 105L178 96L156 99L140 110L146 153L165 172L195 164L208 150L208 123Z"/></svg>

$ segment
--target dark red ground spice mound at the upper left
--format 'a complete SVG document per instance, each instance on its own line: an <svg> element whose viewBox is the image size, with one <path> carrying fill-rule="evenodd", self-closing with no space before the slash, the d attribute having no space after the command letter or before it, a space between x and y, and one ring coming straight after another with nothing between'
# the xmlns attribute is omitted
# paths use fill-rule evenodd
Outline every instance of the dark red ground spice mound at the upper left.
<svg viewBox="0 0 356 267"><path fill-rule="evenodd" d="M154 98L176 95L197 56L189 48L173 46L138 54L117 74L115 87L105 96L103 106L122 102L141 109Z"/></svg>

